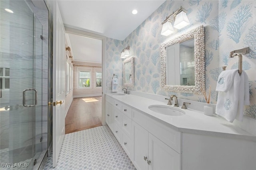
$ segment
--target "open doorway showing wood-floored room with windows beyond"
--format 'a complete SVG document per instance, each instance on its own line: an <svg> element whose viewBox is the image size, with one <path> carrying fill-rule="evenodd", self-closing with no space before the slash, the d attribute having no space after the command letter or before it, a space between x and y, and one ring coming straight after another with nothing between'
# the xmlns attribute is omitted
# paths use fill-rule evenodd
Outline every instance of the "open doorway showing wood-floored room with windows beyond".
<svg viewBox="0 0 256 170"><path fill-rule="evenodd" d="M104 100L104 50L105 50L105 37L96 35L93 33L88 33L78 29L73 29L70 27L65 27L66 33L72 35L76 40L76 43L80 42L79 37L84 37L86 39L92 39L91 43L97 44L96 41L100 41L100 48L91 47L90 50L95 50L100 52L100 63L92 61L89 59L94 57L86 57L88 55L77 55L84 56L84 59L76 58L74 56L74 89L73 89L73 102L69 107L68 113L66 115L66 133L72 133L74 131L88 129L90 127L97 127L99 125L105 125L105 100ZM79 36L79 37L77 37ZM88 40L87 40L88 41ZM70 43L73 49L73 55L76 53L77 46L72 44L72 39L70 38ZM81 43L82 44L82 41ZM76 47L76 48L74 48ZM85 48L80 48L80 50L88 50ZM88 85L88 79L89 85ZM80 106L81 105L81 106ZM75 108L77 107L77 108ZM80 108L79 108L80 107ZM73 111L80 110L79 114ZM83 110L81 112L81 110ZM69 113L73 112L73 113ZM87 114L86 114L87 113ZM86 115L83 115L86 114ZM100 115L99 115L100 114ZM78 121L78 117L80 117ZM82 117L85 119L83 120ZM87 120L86 120L87 119ZM76 123L75 123L76 122Z"/></svg>

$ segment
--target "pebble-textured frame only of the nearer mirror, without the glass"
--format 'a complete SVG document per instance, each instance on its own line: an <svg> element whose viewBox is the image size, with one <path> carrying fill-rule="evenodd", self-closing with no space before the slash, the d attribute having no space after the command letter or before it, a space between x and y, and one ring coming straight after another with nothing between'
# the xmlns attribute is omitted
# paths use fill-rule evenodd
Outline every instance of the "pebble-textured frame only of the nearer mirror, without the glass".
<svg viewBox="0 0 256 170"><path fill-rule="evenodd" d="M166 47L194 38L195 55L195 86L181 86L166 84ZM205 90L204 77L204 26L201 25L191 31L161 44L161 88L162 90L182 93L202 94Z"/></svg>

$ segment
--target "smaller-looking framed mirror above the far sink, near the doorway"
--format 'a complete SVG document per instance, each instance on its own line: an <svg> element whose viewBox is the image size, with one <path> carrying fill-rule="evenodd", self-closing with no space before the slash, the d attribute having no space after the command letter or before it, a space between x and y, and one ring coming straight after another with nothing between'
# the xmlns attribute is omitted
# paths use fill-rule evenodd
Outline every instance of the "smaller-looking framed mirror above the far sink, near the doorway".
<svg viewBox="0 0 256 170"><path fill-rule="evenodd" d="M134 87L134 57L123 61L123 86Z"/></svg>

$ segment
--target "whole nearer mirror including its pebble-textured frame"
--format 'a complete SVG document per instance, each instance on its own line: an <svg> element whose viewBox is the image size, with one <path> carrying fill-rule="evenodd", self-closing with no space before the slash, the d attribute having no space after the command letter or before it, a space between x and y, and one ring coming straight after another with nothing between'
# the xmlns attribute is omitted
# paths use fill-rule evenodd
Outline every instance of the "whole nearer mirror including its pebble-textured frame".
<svg viewBox="0 0 256 170"><path fill-rule="evenodd" d="M204 91L203 25L161 44L161 88L195 94Z"/></svg>

